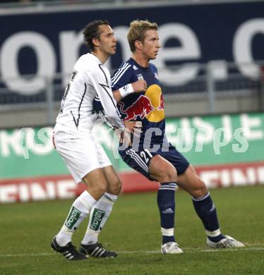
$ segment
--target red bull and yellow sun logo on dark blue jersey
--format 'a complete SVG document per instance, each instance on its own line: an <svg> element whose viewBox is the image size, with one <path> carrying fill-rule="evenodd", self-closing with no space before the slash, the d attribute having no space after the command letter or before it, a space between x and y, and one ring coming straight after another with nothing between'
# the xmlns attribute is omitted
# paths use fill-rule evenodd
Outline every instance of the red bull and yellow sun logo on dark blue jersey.
<svg viewBox="0 0 264 275"><path fill-rule="evenodd" d="M159 85L150 85L145 94L141 94L136 102L124 109L121 104L121 113L125 114L125 121L136 120L136 118L147 118L150 122L160 122L164 119L164 103L162 90Z"/></svg>

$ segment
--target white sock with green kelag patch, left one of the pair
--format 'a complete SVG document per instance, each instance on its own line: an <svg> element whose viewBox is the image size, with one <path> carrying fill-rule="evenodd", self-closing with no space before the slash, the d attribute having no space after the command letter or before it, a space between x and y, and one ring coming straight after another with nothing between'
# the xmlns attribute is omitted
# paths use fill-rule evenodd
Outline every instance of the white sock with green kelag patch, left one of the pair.
<svg viewBox="0 0 264 275"><path fill-rule="evenodd" d="M73 232L76 231L96 202L97 201L87 191L84 191L77 197L73 202L64 225L61 227L61 231L56 235L56 242L59 246L65 246L67 243L71 242Z"/></svg>

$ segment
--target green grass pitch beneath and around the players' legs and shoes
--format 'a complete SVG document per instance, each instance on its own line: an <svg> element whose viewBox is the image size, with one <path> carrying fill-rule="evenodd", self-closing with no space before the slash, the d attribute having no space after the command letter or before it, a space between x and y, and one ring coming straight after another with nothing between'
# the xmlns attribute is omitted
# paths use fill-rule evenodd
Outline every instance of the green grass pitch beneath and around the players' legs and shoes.
<svg viewBox="0 0 264 275"><path fill-rule="evenodd" d="M155 193L121 195L100 235L114 259L70 262L50 248L73 200L0 205L0 274L264 274L264 186L210 191L222 233L245 248L210 250L191 198L176 193L176 241L183 255L160 254ZM78 245L83 222L73 236Z"/></svg>

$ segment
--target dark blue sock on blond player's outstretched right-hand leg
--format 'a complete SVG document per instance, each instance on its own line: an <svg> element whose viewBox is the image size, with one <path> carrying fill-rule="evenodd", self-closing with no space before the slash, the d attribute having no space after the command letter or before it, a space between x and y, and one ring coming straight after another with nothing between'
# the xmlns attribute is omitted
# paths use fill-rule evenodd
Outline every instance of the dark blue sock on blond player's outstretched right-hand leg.
<svg viewBox="0 0 264 275"><path fill-rule="evenodd" d="M220 229L215 204L212 202L209 193L207 193L204 197L201 197L200 199L193 198L193 206L194 209L196 209L196 213L203 221L205 231L212 232ZM219 240L222 240L224 236L220 233L219 230L219 233L216 233L216 236L208 236L208 238L213 242L218 242Z"/></svg>

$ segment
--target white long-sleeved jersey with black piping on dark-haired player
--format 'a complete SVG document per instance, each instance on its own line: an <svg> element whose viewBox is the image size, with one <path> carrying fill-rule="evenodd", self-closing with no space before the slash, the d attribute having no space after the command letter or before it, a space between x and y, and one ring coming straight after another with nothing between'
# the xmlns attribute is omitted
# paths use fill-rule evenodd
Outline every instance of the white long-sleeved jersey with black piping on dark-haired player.
<svg viewBox="0 0 264 275"><path fill-rule="evenodd" d="M124 129L124 123L116 109L109 70L93 54L84 54L73 68L56 123L67 128L91 130L98 118L97 114L92 114L92 103L97 96L107 121L112 126Z"/></svg>

